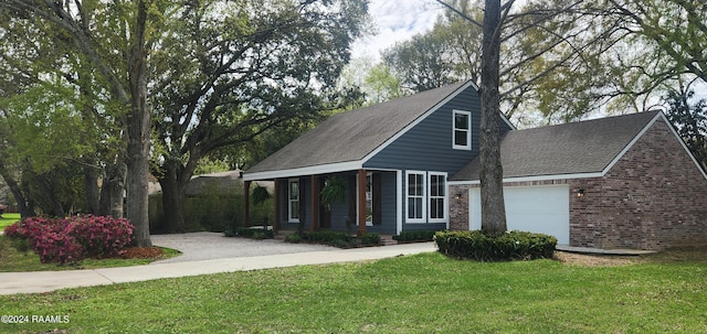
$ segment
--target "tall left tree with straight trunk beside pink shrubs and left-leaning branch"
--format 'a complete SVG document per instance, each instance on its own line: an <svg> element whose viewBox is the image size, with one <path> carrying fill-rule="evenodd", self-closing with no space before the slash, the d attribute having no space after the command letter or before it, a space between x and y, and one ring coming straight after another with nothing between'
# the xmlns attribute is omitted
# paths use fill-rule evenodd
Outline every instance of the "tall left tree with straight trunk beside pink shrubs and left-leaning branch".
<svg viewBox="0 0 707 334"><path fill-rule="evenodd" d="M0 9L22 24L57 36L52 43L80 60L103 88L110 105L125 110L127 217L136 225L136 244L150 246L148 223L148 157L150 115L147 104L148 54L160 36L160 19L169 3L159 0L51 1L7 0ZM28 44L31 41L27 41Z"/></svg>

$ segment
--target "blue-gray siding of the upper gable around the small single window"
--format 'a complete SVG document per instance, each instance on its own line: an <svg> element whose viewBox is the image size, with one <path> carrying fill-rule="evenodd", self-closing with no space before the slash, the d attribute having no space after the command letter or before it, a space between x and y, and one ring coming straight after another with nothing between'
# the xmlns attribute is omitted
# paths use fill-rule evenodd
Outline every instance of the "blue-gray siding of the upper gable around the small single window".
<svg viewBox="0 0 707 334"><path fill-rule="evenodd" d="M453 110L472 112L472 150L452 148ZM437 171L453 175L478 155L479 122L479 96L474 87L468 87L376 154L363 168ZM502 133L509 129L502 120Z"/></svg>

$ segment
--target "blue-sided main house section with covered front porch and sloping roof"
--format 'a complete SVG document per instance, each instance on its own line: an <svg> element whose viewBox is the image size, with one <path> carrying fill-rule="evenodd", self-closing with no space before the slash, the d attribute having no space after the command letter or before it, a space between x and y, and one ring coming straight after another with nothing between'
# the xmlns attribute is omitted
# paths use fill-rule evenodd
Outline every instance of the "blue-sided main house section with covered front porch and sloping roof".
<svg viewBox="0 0 707 334"><path fill-rule="evenodd" d="M275 181L275 227L395 235L449 226L447 177L478 155L479 97L460 83L336 115L243 175ZM502 121L504 131L513 127ZM344 203L320 205L329 177ZM348 223L347 223L348 222Z"/></svg>

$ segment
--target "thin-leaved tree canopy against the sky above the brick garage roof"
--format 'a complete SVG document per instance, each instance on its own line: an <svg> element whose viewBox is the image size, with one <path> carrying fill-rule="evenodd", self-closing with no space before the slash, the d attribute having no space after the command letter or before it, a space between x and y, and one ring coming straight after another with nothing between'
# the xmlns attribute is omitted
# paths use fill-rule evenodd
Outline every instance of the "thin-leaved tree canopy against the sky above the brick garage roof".
<svg viewBox="0 0 707 334"><path fill-rule="evenodd" d="M409 91L463 79L478 84L482 6L441 3L454 10L383 53ZM502 110L532 125L538 117L563 122L661 104L679 80L705 82L706 15L697 0L514 3L503 22Z"/></svg>

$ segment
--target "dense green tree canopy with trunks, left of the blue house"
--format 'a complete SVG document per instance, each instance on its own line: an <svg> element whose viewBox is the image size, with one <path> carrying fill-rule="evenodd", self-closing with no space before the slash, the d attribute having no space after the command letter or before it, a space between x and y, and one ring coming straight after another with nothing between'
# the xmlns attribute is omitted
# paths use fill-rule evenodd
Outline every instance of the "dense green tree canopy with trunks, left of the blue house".
<svg viewBox="0 0 707 334"><path fill-rule="evenodd" d="M45 137L73 140L62 144L73 151L53 151L62 159L106 171L127 165L128 218L144 245L148 160L165 194L179 198L209 153L330 109L327 87L368 19L362 0L9 0L0 13L8 19L0 31L7 51L0 89L12 107L6 114L27 116L29 130ZM57 108L65 112L46 121L59 126L63 117L66 127L46 131L29 119ZM71 121L99 130L85 138ZM14 128L4 130L19 136ZM106 142L115 144L109 153L96 154ZM123 183L119 175L104 179ZM178 201L169 200L168 212L180 211Z"/></svg>

